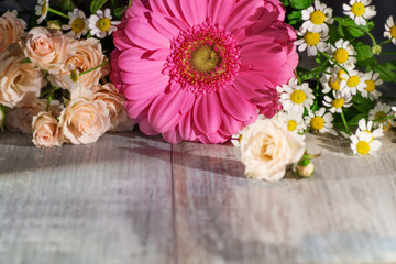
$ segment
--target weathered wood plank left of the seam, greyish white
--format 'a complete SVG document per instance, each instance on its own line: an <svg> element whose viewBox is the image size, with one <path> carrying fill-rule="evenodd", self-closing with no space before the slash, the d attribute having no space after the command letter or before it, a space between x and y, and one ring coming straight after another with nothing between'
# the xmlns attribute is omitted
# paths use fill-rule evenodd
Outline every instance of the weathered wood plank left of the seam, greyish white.
<svg viewBox="0 0 396 264"><path fill-rule="evenodd" d="M0 263L175 263L170 146L140 133L0 138Z"/></svg>

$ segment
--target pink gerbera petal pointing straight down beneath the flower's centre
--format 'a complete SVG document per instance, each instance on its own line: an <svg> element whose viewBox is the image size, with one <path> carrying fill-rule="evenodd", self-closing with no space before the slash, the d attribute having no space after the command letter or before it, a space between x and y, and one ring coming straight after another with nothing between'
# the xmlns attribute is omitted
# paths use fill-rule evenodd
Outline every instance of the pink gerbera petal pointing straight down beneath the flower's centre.
<svg viewBox="0 0 396 264"><path fill-rule="evenodd" d="M194 123L204 134L216 132L221 124L221 102L216 92L202 94L194 106Z"/></svg>

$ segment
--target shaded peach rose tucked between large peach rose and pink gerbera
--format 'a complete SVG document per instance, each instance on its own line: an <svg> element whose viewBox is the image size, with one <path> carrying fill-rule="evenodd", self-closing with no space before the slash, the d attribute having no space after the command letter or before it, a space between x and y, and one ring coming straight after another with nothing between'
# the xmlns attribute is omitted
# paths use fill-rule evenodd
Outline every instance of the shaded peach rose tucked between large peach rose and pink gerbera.
<svg viewBox="0 0 396 264"><path fill-rule="evenodd" d="M109 109L110 130L116 129L120 122L127 121L125 97L118 91L113 84L95 86L91 91L94 100L103 101Z"/></svg>

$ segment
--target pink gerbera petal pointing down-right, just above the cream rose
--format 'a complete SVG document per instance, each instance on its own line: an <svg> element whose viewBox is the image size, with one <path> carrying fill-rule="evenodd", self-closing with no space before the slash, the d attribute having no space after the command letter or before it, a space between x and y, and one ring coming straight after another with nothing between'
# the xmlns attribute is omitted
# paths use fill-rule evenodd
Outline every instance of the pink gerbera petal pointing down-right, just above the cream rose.
<svg viewBox="0 0 396 264"><path fill-rule="evenodd" d="M245 121L257 116L257 108L232 86L220 89L219 94L226 111L235 119Z"/></svg>

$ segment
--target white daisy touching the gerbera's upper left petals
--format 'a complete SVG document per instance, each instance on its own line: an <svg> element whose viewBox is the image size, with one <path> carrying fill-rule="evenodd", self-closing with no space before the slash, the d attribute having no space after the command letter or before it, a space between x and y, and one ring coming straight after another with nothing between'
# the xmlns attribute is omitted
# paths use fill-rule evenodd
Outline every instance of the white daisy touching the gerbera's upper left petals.
<svg viewBox="0 0 396 264"><path fill-rule="evenodd" d="M103 38L114 32L117 30L116 25L119 25L121 21L111 21L111 19L110 9L106 9L105 13L98 10L96 14L89 16L88 28L91 35Z"/></svg>

